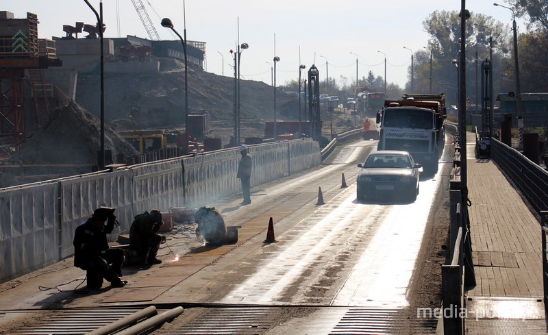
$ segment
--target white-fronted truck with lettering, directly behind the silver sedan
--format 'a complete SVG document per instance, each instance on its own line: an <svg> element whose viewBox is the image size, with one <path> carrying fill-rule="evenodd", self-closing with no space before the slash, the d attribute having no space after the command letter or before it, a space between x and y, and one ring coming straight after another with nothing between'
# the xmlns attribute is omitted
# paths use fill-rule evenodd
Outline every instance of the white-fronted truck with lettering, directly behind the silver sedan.
<svg viewBox="0 0 548 335"><path fill-rule="evenodd" d="M423 108L387 100L385 108L377 113L377 125L380 124L377 150L408 151L426 173L436 173L439 156L434 104L437 108L437 103L431 104L432 108Z"/></svg>

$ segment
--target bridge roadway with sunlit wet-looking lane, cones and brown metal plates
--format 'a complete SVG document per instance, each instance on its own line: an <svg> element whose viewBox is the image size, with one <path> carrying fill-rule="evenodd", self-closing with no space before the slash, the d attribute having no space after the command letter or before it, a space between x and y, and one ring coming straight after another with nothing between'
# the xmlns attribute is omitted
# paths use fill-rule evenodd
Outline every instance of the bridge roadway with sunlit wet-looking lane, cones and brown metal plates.
<svg viewBox="0 0 548 335"><path fill-rule="evenodd" d="M65 332L55 334L85 334L112 322L99 317L109 309L147 306L185 308L153 334L329 334L347 327L433 334L436 320L417 319L416 308L439 307L432 290L438 273L423 267L445 260L432 240L447 238L438 233L447 234L447 225L438 222L436 230L434 216L449 189L451 146L438 173L421 177L416 201L360 202L356 164L376 146L349 142L316 169L252 186L250 205L238 196L209 204L227 226L240 226L237 243L209 246L195 236L195 224L176 225L158 253L162 264L125 266L124 288L87 290L72 258L3 283L0 334L53 334L44 327L56 322L65 322ZM442 217L449 222L447 211ZM267 233L275 242L265 242ZM88 310L97 317L82 325ZM76 314L77 330L52 319L60 311Z"/></svg>

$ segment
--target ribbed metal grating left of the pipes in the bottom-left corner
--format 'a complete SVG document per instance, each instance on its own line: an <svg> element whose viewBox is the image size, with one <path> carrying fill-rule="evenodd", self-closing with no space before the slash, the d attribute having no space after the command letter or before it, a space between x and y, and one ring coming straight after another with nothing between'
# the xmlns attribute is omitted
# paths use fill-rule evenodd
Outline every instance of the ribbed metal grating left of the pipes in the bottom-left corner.
<svg viewBox="0 0 548 335"><path fill-rule="evenodd" d="M50 310L47 317L34 320L33 314L44 314L44 310L36 312L10 311L5 312L5 318L17 318L25 315L29 320L10 335L80 335L97 330L104 325L118 321L138 309L108 309L92 308L85 310Z"/></svg>

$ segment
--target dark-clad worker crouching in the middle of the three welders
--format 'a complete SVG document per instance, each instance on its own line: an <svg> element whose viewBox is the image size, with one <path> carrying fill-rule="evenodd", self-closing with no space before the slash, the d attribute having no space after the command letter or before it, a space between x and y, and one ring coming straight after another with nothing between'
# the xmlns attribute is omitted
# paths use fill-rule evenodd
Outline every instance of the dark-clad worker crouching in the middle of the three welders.
<svg viewBox="0 0 548 335"><path fill-rule="evenodd" d="M129 228L129 249L135 250L138 257L145 264L160 264L162 260L156 258L160 243L165 238L158 234L164 224L162 213L159 210L146 211L135 216L132 227Z"/></svg>

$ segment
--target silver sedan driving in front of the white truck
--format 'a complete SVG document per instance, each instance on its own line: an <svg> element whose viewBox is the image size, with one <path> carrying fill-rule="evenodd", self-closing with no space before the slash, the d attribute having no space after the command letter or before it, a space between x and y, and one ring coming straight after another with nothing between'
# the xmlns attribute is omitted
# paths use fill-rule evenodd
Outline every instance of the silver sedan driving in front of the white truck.
<svg viewBox="0 0 548 335"><path fill-rule="evenodd" d="M422 165L415 163L408 151L373 151L358 167L362 168L356 179L358 201L397 195L415 201L419 194Z"/></svg>

